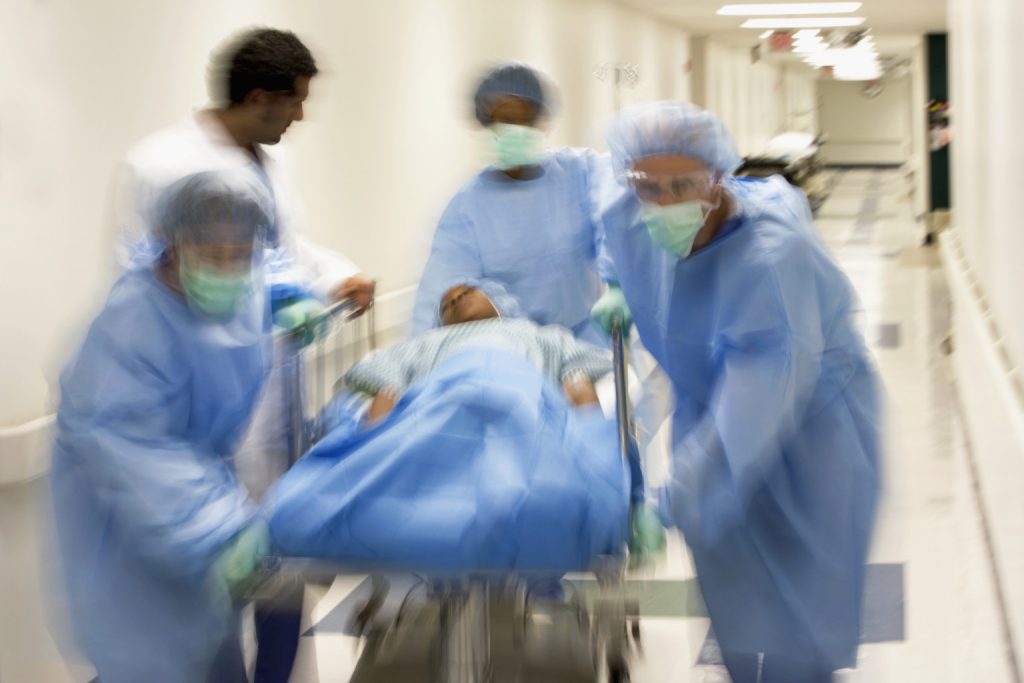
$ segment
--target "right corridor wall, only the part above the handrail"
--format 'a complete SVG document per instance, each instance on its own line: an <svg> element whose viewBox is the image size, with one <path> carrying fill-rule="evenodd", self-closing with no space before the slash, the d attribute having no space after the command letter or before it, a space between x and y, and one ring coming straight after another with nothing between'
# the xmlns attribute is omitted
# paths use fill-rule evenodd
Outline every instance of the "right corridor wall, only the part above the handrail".
<svg viewBox="0 0 1024 683"><path fill-rule="evenodd" d="M1016 0L950 3L953 223L1008 350L1024 362L1024 6Z"/></svg>

